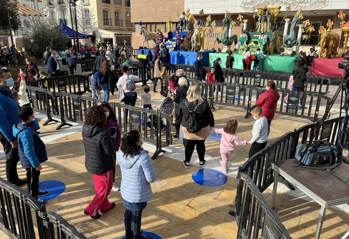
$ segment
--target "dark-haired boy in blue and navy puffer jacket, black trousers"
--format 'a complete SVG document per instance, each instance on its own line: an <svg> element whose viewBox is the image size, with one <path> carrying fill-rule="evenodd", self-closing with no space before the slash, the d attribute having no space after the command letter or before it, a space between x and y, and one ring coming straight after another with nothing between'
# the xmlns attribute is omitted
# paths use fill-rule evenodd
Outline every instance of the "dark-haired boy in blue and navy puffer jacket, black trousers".
<svg viewBox="0 0 349 239"><path fill-rule="evenodd" d="M27 187L29 194L37 199L40 204L46 205L47 201L38 197L49 195L49 191L39 190L39 176L42 170L41 163L47 160L46 147L38 136L36 130L40 129L38 119L29 106L18 110L21 122L13 125L13 136L18 140L18 156L22 168L27 171Z"/></svg>

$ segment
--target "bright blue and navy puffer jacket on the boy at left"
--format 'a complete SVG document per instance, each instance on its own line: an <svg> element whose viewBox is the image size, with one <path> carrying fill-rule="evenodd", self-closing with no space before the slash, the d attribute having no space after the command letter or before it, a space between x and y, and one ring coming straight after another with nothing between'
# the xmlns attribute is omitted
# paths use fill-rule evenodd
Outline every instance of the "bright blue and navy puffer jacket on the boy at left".
<svg viewBox="0 0 349 239"><path fill-rule="evenodd" d="M40 129L39 122L35 119L32 125L36 130ZM18 156L22 168L37 168L40 163L47 160L46 147L37 132L27 124L18 123L13 125L13 136L18 140Z"/></svg>

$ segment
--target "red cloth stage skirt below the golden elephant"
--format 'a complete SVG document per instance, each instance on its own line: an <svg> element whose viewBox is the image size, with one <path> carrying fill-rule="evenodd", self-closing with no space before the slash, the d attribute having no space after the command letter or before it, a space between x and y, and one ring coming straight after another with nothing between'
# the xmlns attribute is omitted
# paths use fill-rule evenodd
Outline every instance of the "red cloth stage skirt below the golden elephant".
<svg viewBox="0 0 349 239"><path fill-rule="evenodd" d="M342 78L344 74L344 70L338 68L338 63L341 60L344 60L344 59L342 57L331 58L331 59L314 58L311 64L311 74Z"/></svg>

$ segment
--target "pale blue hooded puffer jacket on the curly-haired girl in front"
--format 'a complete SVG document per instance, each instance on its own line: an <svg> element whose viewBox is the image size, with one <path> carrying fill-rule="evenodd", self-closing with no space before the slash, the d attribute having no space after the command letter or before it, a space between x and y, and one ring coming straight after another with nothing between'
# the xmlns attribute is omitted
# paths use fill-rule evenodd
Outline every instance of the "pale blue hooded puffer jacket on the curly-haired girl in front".
<svg viewBox="0 0 349 239"><path fill-rule="evenodd" d="M117 152L121 168L121 196L130 203L147 202L151 198L150 183L156 179L153 165L147 151L125 158L121 150Z"/></svg>

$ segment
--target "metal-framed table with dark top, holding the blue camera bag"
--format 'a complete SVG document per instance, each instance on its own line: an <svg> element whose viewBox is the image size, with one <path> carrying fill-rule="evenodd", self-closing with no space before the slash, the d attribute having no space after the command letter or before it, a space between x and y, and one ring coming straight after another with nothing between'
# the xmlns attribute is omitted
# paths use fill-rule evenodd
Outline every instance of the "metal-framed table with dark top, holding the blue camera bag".
<svg viewBox="0 0 349 239"><path fill-rule="evenodd" d="M299 168L295 167L295 164L295 159L272 163L272 168L275 171L271 203L272 208L274 209L275 207L277 183L279 182L280 176L283 176L287 181L321 205L318 226L314 237L318 239L320 238L322 224L325 220L326 209L328 207L349 203L349 185L330 172ZM348 165L340 164L334 171L346 178L349 173L348 170Z"/></svg>

